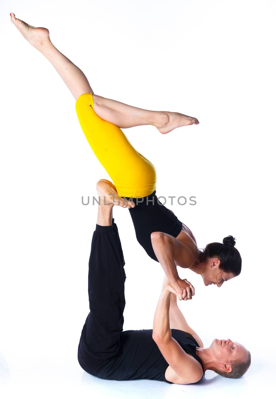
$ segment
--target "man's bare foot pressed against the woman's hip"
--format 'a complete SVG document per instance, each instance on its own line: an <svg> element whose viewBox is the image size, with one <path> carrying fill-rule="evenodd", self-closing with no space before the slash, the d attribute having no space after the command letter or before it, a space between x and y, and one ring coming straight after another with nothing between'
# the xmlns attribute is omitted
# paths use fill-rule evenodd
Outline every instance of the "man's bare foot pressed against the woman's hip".
<svg viewBox="0 0 276 399"><path fill-rule="evenodd" d="M127 201L126 199L119 197L116 187L109 180L101 179L96 184L97 193L101 198L101 203L104 205L119 205L123 208L134 208L135 203L133 201Z"/></svg>

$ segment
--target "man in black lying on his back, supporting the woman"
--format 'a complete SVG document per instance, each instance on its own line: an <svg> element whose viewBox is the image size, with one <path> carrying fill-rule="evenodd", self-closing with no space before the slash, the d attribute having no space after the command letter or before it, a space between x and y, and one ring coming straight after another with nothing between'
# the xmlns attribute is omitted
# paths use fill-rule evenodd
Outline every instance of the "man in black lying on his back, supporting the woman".
<svg viewBox="0 0 276 399"><path fill-rule="evenodd" d="M243 375L250 365L250 352L229 339L215 339L203 348L179 310L176 291L166 277L153 330L123 332L125 262L112 207L108 198L101 198L89 259L90 312L78 348L81 367L103 379L177 384L198 382L207 369L230 378ZM192 286L187 288L188 299L192 290Z"/></svg>

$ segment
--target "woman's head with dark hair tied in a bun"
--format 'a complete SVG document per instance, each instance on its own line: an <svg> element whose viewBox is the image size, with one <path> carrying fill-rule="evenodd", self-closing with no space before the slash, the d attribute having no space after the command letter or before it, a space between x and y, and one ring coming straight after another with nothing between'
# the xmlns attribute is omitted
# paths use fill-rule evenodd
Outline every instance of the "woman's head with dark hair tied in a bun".
<svg viewBox="0 0 276 399"><path fill-rule="evenodd" d="M199 262L204 263L201 273L205 285L222 284L241 273L241 255L235 248L235 238L228 235L223 243L210 243L206 245L199 255Z"/></svg>

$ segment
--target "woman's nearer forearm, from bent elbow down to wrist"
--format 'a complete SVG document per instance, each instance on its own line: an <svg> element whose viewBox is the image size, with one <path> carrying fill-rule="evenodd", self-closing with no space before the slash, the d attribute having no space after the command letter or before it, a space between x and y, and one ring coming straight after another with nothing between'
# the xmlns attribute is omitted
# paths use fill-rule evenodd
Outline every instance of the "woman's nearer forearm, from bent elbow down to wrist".
<svg viewBox="0 0 276 399"><path fill-rule="evenodd" d="M152 248L162 266L170 283L179 279L176 265L173 260L173 247L170 237L164 233L154 232L151 234Z"/></svg>

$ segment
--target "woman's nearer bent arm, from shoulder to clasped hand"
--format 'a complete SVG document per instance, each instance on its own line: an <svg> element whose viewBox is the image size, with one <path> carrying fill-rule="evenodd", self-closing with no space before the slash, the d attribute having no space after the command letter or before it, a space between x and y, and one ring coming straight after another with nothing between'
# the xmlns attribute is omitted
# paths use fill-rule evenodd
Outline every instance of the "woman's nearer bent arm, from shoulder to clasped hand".
<svg viewBox="0 0 276 399"><path fill-rule="evenodd" d="M189 247L171 235L160 231L152 233L151 240L154 253L179 299L191 299L195 290L187 280L180 279L175 265L175 260L177 265L184 268L193 265L194 257ZM190 287L189 291L186 290L188 286Z"/></svg>

